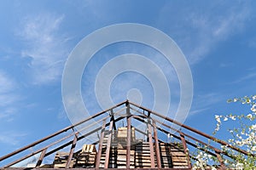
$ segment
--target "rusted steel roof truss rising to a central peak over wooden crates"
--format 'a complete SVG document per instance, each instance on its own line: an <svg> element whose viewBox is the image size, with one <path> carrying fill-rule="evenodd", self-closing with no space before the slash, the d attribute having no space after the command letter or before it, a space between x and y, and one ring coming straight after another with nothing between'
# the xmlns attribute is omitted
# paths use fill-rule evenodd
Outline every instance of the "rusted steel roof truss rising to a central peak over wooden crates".
<svg viewBox="0 0 256 170"><path fill-rule="evenodd" d="M125 108L125 110L124 110L124 108ZM117 113L120 111L125 111L125 116L117 116ZM147 113L147 115L145 113ZM76 130L76 127L82 126L85 122L89 122L92 119L98 119L103 115L106 115L106 116L104 116L103 119L97 121L97 123L102 124L102 127L95 127L92 130L90 129L90 132L87 132L86 127L85 127L82 130L85 133L81 133L81 129L79 131ZM143 122L144 125L147 127L147 132L143 132L141 129L138 129L136 126L133 127L131 125L132 119L134 119L138 122ZM165 120L165 122L160 122L159 119ZM154 111L150 111L147 108L144 108L143 106L131 103L130 101L126 100L122 103L119 103L118 105L114 105L112 108L109 108L106 111L101 111L94 116L90 116L90 117L86 118L82 122L78 122L77 124L63 128L61 131L53 133L53 134L45 137L44 139L40 139L32 144L28 144L25 147L20 148L19 150L15 150L14 152L9 153L6 156L2 156L2 157L0 157L0 162L1 161L7 162L5 165L3 165L4 168L12 167L15 164L19 163L20 161L24 161L31 156L35 156L35 155L39 154L39 158L38 158L38 161L37 161L35 167L40 168L40 166L46 156L49 156L58 150L61 150L65 147L70 146L69 155L67 157L67 162L66 162L66 166L65 166L66 168L69 168L71 165L73 156L75 154L75 148L78 145L77 143L79 142L79 140L84 139L84 138L90 136L91 134L97 133L100 131L101 135L99 137L99 140L95 141L95 143L94 143L94 144L98 144L98 153L96 155L95 168L87 168L87 169L94 170L94 169L98 169L100 167L100 163L101 163L100 161L101 161L101 156L102 156L102 144L103 144L103 139L104 139L106 133L108 133L108 144L107 144L106 156L105 156L105 161L104 161L104 168L108 168L108 161L109 161L109 154L110 154L111 143L112 143L112 138L113 138L113 131L115 131L117 129L116 122L119 122L121 120L126 120L126 124L127 124L126 169L131 168L131 127L134 128L137 131L137 133L141 133L141 134L145 135L149 142L149 149L150 149L150 153L151 153L150 154L151 168L143 168L143 170L160 169L161 168L159 142L163 143L164 141L159 138L158 133L165 133L166 135L170 135L170 132L172 132L172 131L177 132L177 134L179 134L179 135L177 135L176 133L172 133L171 135L173 138L180 140L181 144L183 145L183 152L186 154L186 156L188 158L187 161L188 161L189 168L183 168L183 169L191 169L191 167L192 167L191 159L195 159L193 156L189 155L189 150L188 150L189 146L193 147L195 149L198 149L198 150L205 151L208 154L215 156L217 158L217 160L219 161L219 168L225 168L224 162L222 160L222 156L229 156L229 155L227 155L227 153L218 149L222 145L230 147L230 149L236 150L244 155L249 155L247 153L247 151L245 151L245 150L236 148L235 146L227 144L226 142L224 142L222 140L216 139L206 133L202 133L202 132L196 130L195 128L183 125L182 123L172 120L169 117L163 116ZM158 126L158 124L160 126ZM182 127L182 129L176 129L172 125ZM108 127L108 130L106 130L107 127ZM153 131L152 131L152 129L153 129ZM72 131L72 132L67 133L69 131ZM189 132L189 134L184 133L183 131L186 131L187 133ZM200 139L193 137L193 135L190 135L190 133L194 133L198 136L201 136L202 138L211 140L212 142L215 143L215 145L212 146L210 144L207 144L206 142L203 142ZM63 134L65 134L64 137L63 137ZM61 139L55 139L56 136L60 136L60 135L62 135ZM73 138L73 139L71 139L71 138ZM49 141L49 139L51 139L51 141L52 141L52 139L55 139L55 141L50 142L46 146L44 146L38 150L32 151L31 153L29 153L27 155L24 155L24 154L22 155L22 153L24 151L27 151L34 146L38 146L39 144L46 143L47 141ZM66 143L62 144L63 141L66 141L67 139L68 139L68 141ZM198 144L205 145L213 151L204 150L203 148L198 147ZM216 147L217 144L218 144L218 147ZM17 156L17 155L19 155L19 156L21 155L20 158L16 159L15 161L13 161L13 160L9 161L9 160L11 160L10 158L12 158L13 156ZM230 158L232 158L232 156L230 156ZM156 165L154 163L154 160L156 160ZM20 169L20 168L14 168L14 169ZM43 168L41 168L41 169L43 169ZM76 168L76 169L79 169L79 168ZM115 169L115 168L113 168L113 169ZM140 169L140 168L137 168L137 169ZM172 168L165 168L165 169L172 169ZM175 169L178 169L178 168L175 168Z"/></svg>

